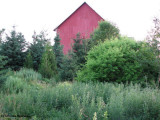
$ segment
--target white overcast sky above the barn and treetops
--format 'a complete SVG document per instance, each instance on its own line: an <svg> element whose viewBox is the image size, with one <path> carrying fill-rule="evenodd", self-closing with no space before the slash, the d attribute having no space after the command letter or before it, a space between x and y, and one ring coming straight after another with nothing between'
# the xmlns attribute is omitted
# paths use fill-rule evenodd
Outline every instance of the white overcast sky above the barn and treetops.
<svg viewBox="0 0 160 120"><path fill-rule="evenodd" d="M53 29L83 2L136 40L145 39L153 18L160 17L160 0L0 0L0 29L9 31L15 25L27 41L34 30L47 30L53 39Z"/></svg>

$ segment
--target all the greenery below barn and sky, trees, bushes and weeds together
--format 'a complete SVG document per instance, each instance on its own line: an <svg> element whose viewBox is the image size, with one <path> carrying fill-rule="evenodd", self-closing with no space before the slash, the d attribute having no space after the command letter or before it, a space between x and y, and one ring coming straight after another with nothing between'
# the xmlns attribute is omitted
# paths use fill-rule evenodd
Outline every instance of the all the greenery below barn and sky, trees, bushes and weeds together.
<svg viewBox="0 0 160 120"><path fill-rule="evenodd" d="M78 33L66 55L58 34L52 46L34 32L27 46L15 29L5 39L0 30L0 119L159 120L155 23L149 42L137 42L102 21L89 39Z"/></svg>

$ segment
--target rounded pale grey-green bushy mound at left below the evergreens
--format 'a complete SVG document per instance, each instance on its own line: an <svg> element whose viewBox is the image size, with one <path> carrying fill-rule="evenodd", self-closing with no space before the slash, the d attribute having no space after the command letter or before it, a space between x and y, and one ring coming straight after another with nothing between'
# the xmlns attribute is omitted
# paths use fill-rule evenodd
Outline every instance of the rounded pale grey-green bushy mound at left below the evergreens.
<svg viewBox="0 0 160 120"><path fill-rule="evenodd" d="M46 80L51 81L51 80ZM52 82L54 82L52 80ZM55 84L55 83L54 83ZM42 78L41 74L33 71L32 69L23 68L18 72L13 72L8 75L7 80L2 86L2 90L5 93L20 93L28 90L43 89L47 86L46 82Z"/></svg>

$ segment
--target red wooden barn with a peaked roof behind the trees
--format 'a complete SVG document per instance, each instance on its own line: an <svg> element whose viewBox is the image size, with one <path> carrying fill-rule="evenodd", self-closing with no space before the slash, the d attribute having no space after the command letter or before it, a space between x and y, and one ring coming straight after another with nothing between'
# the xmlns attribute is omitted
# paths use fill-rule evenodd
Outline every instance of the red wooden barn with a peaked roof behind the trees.
<svg viewBox="0 0 160 120"><path fill-rule="evenodd" d="M77 33L81 37L89 38L90 33L98 26L98 22L103 18L98 15L86 2L75 10L66 20L54 29L60 38L61 44L64 45L63 52L66 54L71 49L71 43Z"/></svg>

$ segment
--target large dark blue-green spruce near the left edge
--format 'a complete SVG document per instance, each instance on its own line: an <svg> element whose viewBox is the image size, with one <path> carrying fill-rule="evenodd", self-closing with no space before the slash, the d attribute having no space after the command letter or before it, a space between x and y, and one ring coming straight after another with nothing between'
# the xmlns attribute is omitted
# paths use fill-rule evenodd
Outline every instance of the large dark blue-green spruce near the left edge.
<svg viewBox="0 0 160 120"><path fill-rule="evenodd" d="M12 70L19 70L23 67L25 60L26 41L22 33L17 33L15 29L7 34L5 41L1 44L1 55L6 56L7 64L5 67Z"/></svg>

